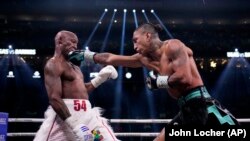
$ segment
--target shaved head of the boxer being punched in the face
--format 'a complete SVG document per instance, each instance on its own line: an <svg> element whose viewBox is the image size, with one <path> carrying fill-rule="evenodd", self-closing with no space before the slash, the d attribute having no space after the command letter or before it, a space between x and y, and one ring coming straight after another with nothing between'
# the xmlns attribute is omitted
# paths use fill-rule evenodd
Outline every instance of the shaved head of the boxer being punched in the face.
<svg viewBox="0 0 250 141"><path fill-rule="evenodd" d="M70 31L62 30L55 37L56 53L67 56L70 51L76 50L78 38Z"/></svg>

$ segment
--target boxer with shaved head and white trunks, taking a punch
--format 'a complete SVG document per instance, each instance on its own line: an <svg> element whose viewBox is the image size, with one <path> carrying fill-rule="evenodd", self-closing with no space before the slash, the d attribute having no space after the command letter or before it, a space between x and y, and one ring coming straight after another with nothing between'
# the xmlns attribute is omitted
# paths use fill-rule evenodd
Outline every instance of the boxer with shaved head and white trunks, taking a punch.
<svg viewBox="0 0 250 141"><path fill-rule="evenodd" d="M108 79L117 78L111 65L102 68L89 83L79 66L68 61L77 49L78 38L70 31L55 37L55 53L44 68L44 79L50 106L34 141L117 141L100 108L91 107L89 93ZM73 59L73 58L71 58ZM96 135L98 133L98 135Z"/></svg>

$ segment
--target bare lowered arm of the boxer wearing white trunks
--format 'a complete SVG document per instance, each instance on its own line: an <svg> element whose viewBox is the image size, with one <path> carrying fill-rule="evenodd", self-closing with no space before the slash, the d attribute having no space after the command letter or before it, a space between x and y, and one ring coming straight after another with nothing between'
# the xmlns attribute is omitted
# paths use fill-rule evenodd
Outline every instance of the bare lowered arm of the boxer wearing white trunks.
<svg viewBox="0 0 250 141"><path fill-rule="evenodd" d="M50 60L44 69L45 86L49 103L62 120L70 116L70 112L62 100L61 70L58 63Z"/></svg>

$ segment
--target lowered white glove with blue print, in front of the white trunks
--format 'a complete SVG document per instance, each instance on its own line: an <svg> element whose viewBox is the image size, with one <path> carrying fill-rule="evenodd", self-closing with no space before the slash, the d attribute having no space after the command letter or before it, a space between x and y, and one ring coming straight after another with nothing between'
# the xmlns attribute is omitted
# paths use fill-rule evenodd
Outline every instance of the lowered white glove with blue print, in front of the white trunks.
<svg viewBox="0 0 250 141"><path fill-rule="evenodd" d="M81 119L70 116L64 122L73 131L77 141L92 141L91 130L79 120Z"/></svg>

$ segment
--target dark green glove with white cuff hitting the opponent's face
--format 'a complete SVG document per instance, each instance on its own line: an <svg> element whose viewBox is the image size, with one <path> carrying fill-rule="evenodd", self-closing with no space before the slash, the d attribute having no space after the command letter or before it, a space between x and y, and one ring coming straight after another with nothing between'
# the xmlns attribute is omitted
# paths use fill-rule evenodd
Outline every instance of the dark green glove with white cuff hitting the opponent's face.
<svg viewBox="0 0 250 141"><path fill-rule="evenodd" d="M94 62L95 52L85 51L85 50L75 50L68 54L68 60L74 65L80 66L81 62L86 60L89 62Z"/></svg>

